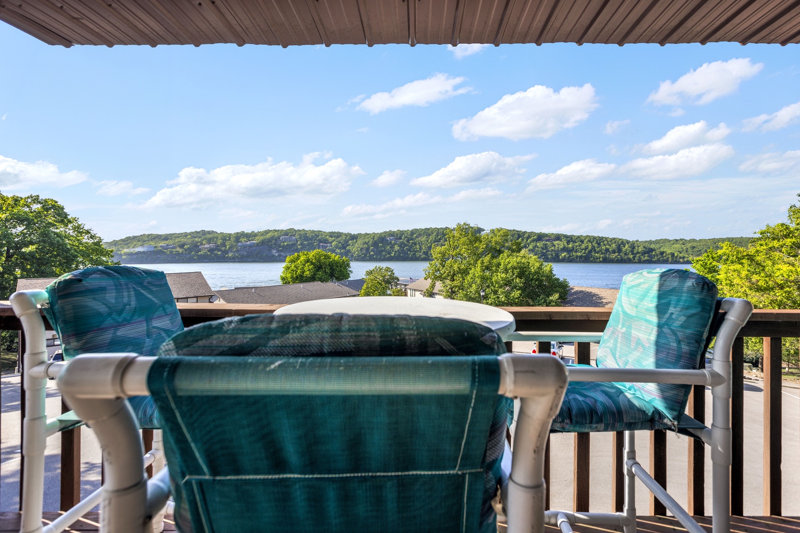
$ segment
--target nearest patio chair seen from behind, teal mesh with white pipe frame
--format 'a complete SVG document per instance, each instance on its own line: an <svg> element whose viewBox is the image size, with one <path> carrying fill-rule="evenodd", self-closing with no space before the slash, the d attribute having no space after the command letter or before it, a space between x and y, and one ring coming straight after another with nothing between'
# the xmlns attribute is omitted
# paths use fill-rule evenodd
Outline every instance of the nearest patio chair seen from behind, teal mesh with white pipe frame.
<svg viewBox="0 0 800 533"><path fill-rule="evenodd" d="M171 480L183 533L494 532L518 396L525 452L511 467L508 527L538 532L566 367L504 352L495 332L465 320L244 316L189 328L158 357L79 356L58 387L109 457L101 531L146 531ZM145 394L168 458L149 483L122 400Z"/></svg>

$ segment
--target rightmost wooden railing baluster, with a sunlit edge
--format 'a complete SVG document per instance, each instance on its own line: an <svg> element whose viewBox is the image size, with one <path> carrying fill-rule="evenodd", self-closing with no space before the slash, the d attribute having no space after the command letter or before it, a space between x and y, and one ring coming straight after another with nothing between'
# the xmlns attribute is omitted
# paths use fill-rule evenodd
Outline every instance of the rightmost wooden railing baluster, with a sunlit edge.
<svg viewBox="0 0 800 533"><path fill-rule="evenodd" d="M781 337L764 337L764 515L781 515Z"/></svg>

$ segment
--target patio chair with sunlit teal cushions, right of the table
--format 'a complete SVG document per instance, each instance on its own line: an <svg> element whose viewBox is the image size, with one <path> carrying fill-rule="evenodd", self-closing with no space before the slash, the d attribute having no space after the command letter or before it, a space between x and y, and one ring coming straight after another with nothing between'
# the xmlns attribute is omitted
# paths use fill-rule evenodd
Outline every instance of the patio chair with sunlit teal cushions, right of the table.
<svg viewBox="0 0 800 533"><path fill-rule="evenodd" d="M636 461L635 431L669 429L710 445L714 533L730 531L730 348L752 310L747 300L718 299L710 280L688 270L659 268L625 276L600 339L597 368L568 366L570 385L550 430L625 432L623 511L547 511L547 523L562 531L578 523L623 526L625 533L634 533L636 476L688 531L705 531ZM712 336L711 368L701 368ZM565 337L586 340L578 333ZM684 414L691 385L711 388L711 428Z"/></svg>

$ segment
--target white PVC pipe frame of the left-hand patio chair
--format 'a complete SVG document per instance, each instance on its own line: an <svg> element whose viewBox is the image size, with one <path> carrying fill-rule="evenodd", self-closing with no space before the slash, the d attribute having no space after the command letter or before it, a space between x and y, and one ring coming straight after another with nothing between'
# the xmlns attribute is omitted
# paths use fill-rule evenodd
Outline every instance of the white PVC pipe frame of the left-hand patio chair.
<svg viewBox="0 0 800 533"><path fill-rule="evenodd" d="M48 378L57 376L58 372L69 363L69 361L50 362L47 360L45 326L38 308L38 305L45 304L47 301L48 296L45 291L14 292L10 297L14 314L22 323L26 341L22 373L26 403L25 417L22 420L24 428L22 457L25 459L25 470L22 479L21 533L60 533L100 503L102 499L103 487L94 491L52 523L46 526L42 525L47 438L55 435L64 427L58 419L47 420L46 385ZM154 475L164 467L161 430L154 430L153 450L143 455L142 462L144 467L152 465ZM153 524L152 533L162 531L163 513L156 516Z"/></svg>

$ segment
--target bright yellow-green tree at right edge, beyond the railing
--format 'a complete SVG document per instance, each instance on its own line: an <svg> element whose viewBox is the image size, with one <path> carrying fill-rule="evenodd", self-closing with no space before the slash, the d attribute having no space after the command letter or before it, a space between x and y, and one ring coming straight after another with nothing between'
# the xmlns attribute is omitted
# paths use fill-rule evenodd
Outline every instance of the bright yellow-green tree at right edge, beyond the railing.
<svg viewBox="0 0 800 533"><path fill-rule="evenodd" d="M800 197L800 194L798 194ZM714 281L720 296L746 298L755 308L800 308L800 207L790 205L787 221L766 225L749 245L722 243L692 261L692 268ZM762 339L746 337L747 360L762 354ZM800 364L798 339L783 339L783 360Z"/></svg>

